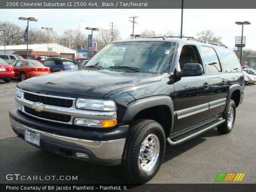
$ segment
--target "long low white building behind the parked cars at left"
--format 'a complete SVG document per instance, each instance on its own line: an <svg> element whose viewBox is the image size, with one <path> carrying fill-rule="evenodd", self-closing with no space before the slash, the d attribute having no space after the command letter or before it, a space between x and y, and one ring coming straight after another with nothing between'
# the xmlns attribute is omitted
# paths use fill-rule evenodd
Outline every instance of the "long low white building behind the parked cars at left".
<svg viewBox="0 0 256 192"><path fill-rule="evenodd" d="M23 58L27 57L27 45L8 45L0 46L0 54L17 54ZM29 44L28 55L47 56L47 44ZM74 60L76 58L76 50L64 47L56 43L49 44L49 56L61 56Z"/></svg>

